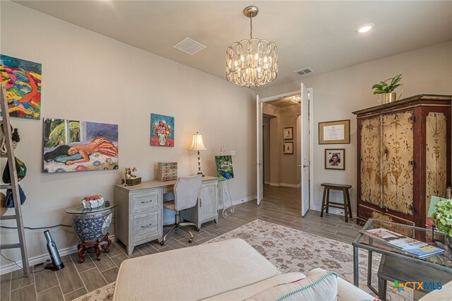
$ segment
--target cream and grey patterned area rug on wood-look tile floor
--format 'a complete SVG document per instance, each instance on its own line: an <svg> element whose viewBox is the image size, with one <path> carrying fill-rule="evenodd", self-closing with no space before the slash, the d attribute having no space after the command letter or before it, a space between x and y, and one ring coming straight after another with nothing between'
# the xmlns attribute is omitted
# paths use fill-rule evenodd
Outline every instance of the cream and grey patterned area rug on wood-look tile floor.
<svg viewBox="0 0 452 301"><path fill-rule="evenodd" d="M253 220L237 229L227 232L206 243L242 238L259 253L277 266L280 271L289 273L301 271L308 273L313 268L324 268L335 271L346 281L353 283L353 247L337 240L314 235L308 232L270 223L265 220ZM379 268L380 256L374 254L372 265L372 281L377 285L376 272ZM359 251L359 288L371 293L367 288L367 252ZM412 300L412 292L398 293L388 282L386 300ZM94 290L76 301L110 301L113 297L114 283ZM371 295L374 295L371 293Z"/></svg>

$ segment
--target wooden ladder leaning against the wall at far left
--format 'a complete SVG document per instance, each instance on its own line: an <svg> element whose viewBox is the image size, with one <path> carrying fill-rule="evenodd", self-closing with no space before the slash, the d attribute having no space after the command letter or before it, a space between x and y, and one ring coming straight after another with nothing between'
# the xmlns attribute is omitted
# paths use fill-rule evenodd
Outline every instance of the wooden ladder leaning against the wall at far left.
<svg viewBox="0 0 452 301"><path fill-rule="evenodd" d="M11 184L1 184L1 189L12 189L13 190L13 200L14 200L14 211L15 214L12 216L1 216L1 220L16 220L17 232L19 237L19 242L16 244L0 244L1 249L14 249L20 248L20 254L22 255L22 269L23 276L30 276L30 264L28 262L27 245L25 243L25 231L23 230L23 218L22 218L22 208L20 204L20 194L17 179L16 170L16 157L14 156L13 141L11 139L11 122L8 112L8 100L6 100L6 92L4 85L1 86L0 94L0 105L1 105L1 117L4 129L4 136L6 140L6 151L8 151L8 167L9 174L11 175Z"/></svg>

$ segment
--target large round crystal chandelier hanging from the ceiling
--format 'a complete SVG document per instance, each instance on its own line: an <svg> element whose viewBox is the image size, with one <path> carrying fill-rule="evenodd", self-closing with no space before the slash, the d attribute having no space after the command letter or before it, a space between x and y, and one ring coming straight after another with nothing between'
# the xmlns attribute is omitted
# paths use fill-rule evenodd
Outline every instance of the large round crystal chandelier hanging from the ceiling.
<svg viewBox="0 0 452 301"><path fill-rule="evenodd" d="M265 85L275 80L278 73L278 47L263 39L253 39L253 17L257 6L248 6L243 13L249 18L249 40L234 42L226 50L227 81L250 87Z"/></svg>

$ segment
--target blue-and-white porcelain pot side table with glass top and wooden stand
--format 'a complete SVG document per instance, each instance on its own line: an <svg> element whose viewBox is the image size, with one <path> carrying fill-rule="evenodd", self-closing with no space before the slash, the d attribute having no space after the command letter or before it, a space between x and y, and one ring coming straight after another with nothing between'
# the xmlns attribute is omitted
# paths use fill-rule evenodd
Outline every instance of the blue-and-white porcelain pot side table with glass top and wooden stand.
<svg viewBox="0 0 452 301"><path fill-rule="evenodd" d="M80 263L85 261L86 254L95 253L96 259L100 260L102 249L105 253L109 252L112 240L109 240L109 229L113 220L113 208L117 204L105 203L97 208L86 209L83 205L73 206L66 209L66 213L72 214L72 225L76 231L80 242L77 244ZM101 244L107 242L107 244Z"/></svg>

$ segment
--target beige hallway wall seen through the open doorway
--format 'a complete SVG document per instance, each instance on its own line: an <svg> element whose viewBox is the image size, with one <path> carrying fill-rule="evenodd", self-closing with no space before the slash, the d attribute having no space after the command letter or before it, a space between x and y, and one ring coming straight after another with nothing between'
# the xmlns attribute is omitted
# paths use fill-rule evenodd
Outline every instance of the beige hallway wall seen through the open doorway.
<svg viewBox="0 0 452 301"><path fill-rule="evenodd" d="M263 102L262 112L270 119L270 184L275 186L297 186L299 184L299 168L297 163L297 117L299 105L276 107ZM271 127L273 125L273 127ZM283 128L293 127L294 154L283 153ZM287 140L290 141L290 140Z"/></svg>

